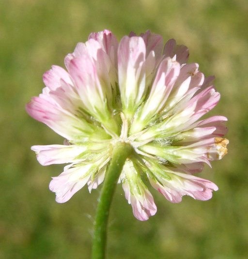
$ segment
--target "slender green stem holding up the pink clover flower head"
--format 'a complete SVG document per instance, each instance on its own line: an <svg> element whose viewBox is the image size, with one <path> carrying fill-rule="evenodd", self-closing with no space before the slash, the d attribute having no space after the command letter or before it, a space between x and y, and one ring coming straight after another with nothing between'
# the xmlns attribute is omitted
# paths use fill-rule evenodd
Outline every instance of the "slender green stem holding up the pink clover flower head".
<svg viewBox="0 0 248 259"><path fill-rule="evenodd" d="M131 153L132 147L127 143L119 142L114 146L112 160L105 176L95 216L92 259L105 258L109 208L116 183L124 163Z"/></svg>

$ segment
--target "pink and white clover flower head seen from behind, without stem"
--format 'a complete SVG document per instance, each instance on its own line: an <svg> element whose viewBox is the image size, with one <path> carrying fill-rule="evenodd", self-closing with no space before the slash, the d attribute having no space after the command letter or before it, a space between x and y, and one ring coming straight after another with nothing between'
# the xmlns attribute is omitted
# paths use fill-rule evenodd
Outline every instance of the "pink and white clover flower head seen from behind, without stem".
<svg viewBox="0 0 248 259"><path fill-rule="evenodd" d="M156 213L148 184L171 202L212 197L217 185L192 174L227 153L227 119L199 121L220 95L214 76L187 64L188 55L186 46L174 39L164 46L149 30L120 43L104 30L65 57L67 71L52 66L44 74L46 87L27 112L65 138L63 145L31 147L43 166L68 163L49 185L57 202L86 184L90 192L97 188L118 142L133 148L119 183L136 218Z"/></svg>

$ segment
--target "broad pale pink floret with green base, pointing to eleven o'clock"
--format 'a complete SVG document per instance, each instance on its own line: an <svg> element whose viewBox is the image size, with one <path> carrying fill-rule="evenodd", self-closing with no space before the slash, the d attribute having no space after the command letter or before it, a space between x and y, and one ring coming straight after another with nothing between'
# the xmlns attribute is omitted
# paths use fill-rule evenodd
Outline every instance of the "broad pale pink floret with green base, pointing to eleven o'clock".
<svg viewBox="0 0 248 259"><path fill-rule="evenodd" d="M90 39L87 44L87 49L90 47L91 51L86 51L80 57L72 59L69 72L85 110L110 131L117 133L119 125L111 114L115 100L113 100L107 69L108 56L99 48L100 45L95 40ZM94 48L97 48L95 51L97 61L93 57Z"/></svg>

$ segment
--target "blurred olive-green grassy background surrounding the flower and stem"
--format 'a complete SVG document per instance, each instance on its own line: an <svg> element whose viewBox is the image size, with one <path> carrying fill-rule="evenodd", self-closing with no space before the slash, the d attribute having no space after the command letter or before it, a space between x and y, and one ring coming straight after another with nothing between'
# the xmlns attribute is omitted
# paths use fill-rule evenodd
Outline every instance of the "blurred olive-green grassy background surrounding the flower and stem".
<svg viewBox="0 0 248 259"><path fill-rule="evenodd" d="M88 259L99 190L64 204L48 189L62 166L42 167L31 145L62 143L25 112L42 75L92 31L118 40L148 29L188 46L190 62L215 75L221 93L210 115L228 117L229 153L200 174L217 183L209 201L171 204L134 218L117 187L108 259L248 258L248 2L246 0L0 0L0 259ZM99 188L100 189L100 188Z"/></svg>

